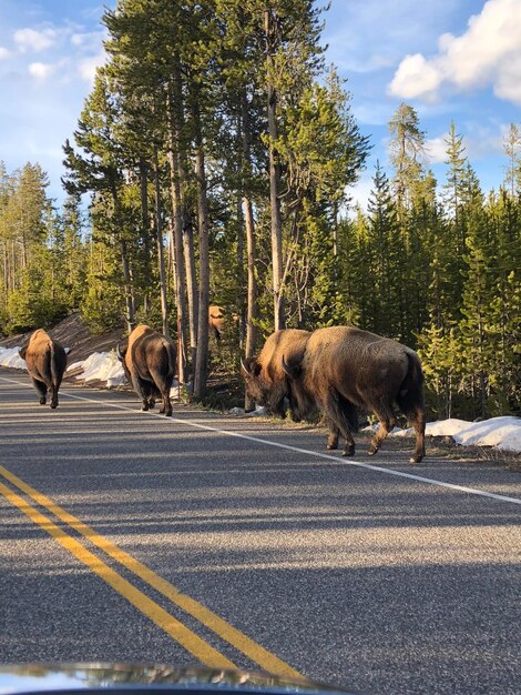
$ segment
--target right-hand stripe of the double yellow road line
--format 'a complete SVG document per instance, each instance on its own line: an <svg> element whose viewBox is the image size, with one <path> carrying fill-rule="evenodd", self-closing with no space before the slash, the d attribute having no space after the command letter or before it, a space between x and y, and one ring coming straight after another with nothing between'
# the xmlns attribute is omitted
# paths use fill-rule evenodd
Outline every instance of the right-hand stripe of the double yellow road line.
<svg viewBox="0 0 521 695"><path fill-rule="evenodd" d="M133 574L146 582L152 588L160 592L163 596L172 601L180 608L195 617L203 625L208 627L216 635L222 637L225 642L233 647L242 652L245 656L258 664L264 671L277 675L302 677L302 675L292 668L288 664L280 658L265 649L263 646L247 637L239 629L233 627L224 621L222 617L206 608L201 603L191 598L186 594L181 593L178 588L170 584L166 580L159 576L143 565L141 562L122 551L118 545L104 538L93 531L85 523L67 512L63 507L59 506L52 500L31 487L28 483L17 477L13 473L0 466L0 475L3 475L12 485L29 495L34 502L45 507L49 512L54 514L62 522L74 528L82 536L88 538L93 545L102 550L110 557L125 566ZM83 546L81 546L83 547Z"/></svg>

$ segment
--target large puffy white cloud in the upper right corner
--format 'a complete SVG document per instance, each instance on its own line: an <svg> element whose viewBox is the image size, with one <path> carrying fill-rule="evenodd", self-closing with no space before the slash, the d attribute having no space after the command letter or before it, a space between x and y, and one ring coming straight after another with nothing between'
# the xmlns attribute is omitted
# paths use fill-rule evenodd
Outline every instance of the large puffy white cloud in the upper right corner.
<svg viewBox="0 0 521 695"><path fill-rule="evenodd" d="M442 34L430 59L406 56L389 85L405 99L432 99L442 83L457 90L491 84L501 99L521 104L521 2L488 0L460 37Z"/></svg>

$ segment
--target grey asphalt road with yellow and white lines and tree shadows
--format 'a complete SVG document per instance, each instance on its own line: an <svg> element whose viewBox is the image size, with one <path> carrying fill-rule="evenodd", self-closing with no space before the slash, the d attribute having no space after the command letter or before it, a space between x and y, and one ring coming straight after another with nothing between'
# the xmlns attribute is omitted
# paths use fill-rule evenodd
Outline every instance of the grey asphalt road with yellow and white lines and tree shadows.
<svg viewBox="0 0 521 695"><path fill-rule="evenodd" d="M519 694L521 475L324 444L0 370L0 661Z"/></svg>

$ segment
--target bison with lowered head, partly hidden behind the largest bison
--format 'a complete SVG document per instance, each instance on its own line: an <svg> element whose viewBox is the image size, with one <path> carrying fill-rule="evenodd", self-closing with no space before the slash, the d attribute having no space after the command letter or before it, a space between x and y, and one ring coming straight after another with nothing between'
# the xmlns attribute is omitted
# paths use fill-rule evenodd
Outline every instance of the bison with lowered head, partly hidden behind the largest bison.
<svg viewBox="0 0 521 695"><path fill-rule="evenodd" d="M241 373L246 382L246 395L284 417L288 377L283 369L283 357L286 355L295 362L302 360L309 336L308 331L298 329L275 331L264 343L258 357L242 360Z"/></svg>

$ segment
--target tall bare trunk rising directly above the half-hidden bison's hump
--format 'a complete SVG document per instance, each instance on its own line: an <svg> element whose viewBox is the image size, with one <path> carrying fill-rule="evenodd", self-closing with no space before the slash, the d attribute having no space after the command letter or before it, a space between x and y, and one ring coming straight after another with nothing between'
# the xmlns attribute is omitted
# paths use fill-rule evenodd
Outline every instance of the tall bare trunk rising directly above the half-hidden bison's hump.
<svg viewBox="0 0 521 695"><path fill-rule="evenodd" d="M266 36L266 72L267 72L267 115L269 135L269 203L272 216L272 263L275 330L285 328L285 306L283 288L283 223L280 216L280 167L277 162L275 142L277 129L277 93L273 83L273 53L278 43L277 22L272 10L264 12L264 30Z"/></svg>

